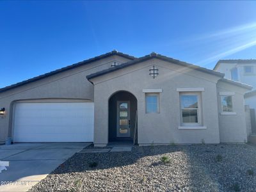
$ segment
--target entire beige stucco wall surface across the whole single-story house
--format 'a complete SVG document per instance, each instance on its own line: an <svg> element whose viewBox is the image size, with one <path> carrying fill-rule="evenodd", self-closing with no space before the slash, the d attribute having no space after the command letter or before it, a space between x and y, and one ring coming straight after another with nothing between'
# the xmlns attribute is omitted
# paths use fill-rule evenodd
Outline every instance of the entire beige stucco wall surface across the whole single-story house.
<svg viewBox="0 0 256 192"><path fill-rule="evenodd" d="M108 99L120 90L131 92L138 100L138 143L140 145L170 143L243 142L246 139L243 94L246 90L218 81L220 77L181 67L157 59L138 63L92 79L86 76L109 68L113 61L128 61L111 56L82 67L0 93L0 108L6 116L0 118L0 141L12 136L12 105L17 100L31 99L88 99L95 102L96 145L108 143ZM153 79L148 69L155 65L159 76ZM145 113L143 89L162 89L159 93L160 113ZM177 88L204 88L202 122L206 129L180 130L180 104ZM234 109L237 115L220 115L219 92L236 92ZM218 103L218 104L217 104Z"/></svg>

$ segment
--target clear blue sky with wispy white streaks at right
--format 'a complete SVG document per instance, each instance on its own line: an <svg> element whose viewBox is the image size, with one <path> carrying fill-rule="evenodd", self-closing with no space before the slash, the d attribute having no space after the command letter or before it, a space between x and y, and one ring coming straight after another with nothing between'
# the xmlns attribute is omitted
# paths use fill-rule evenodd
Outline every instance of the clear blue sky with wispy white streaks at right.
<svg viewBox="0 0 256 192"><path fill-rule="evenodd" d="M256 58L256 2L0 2L0 87L113 49L211 69Z"/></svg>

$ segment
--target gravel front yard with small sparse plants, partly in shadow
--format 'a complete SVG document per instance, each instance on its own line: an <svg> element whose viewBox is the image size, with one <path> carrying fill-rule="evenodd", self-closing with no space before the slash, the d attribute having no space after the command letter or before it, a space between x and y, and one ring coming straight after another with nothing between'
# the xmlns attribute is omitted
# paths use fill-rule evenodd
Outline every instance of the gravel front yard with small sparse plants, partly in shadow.
<svg viewBox="0 0 256 192"><path fill-rule="evenodd" d="M34 191L256 191L256 147L166 145L75 154Z"/></svg>

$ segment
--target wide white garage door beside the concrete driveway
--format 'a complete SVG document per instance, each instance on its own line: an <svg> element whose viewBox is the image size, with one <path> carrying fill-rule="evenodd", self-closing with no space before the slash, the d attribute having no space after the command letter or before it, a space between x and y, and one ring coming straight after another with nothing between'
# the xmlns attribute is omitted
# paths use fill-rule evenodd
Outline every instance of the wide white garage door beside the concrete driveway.
<svg viewBox="0 0 256 192"><path fill-rule="evenodd" d="M15 142L92 142L93 102L15 104Z"/></svg>

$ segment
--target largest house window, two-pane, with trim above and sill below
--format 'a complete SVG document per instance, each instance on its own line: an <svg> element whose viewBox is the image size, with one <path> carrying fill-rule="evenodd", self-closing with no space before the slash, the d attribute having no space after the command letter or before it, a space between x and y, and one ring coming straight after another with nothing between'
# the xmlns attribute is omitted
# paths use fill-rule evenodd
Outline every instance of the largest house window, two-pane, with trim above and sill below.
<svg viewBox="0 0 256 192"><path fill-rule="evenodd" d="M200 100L200 93L180 92L180 113L182 125L201 124Z"/></svg>

